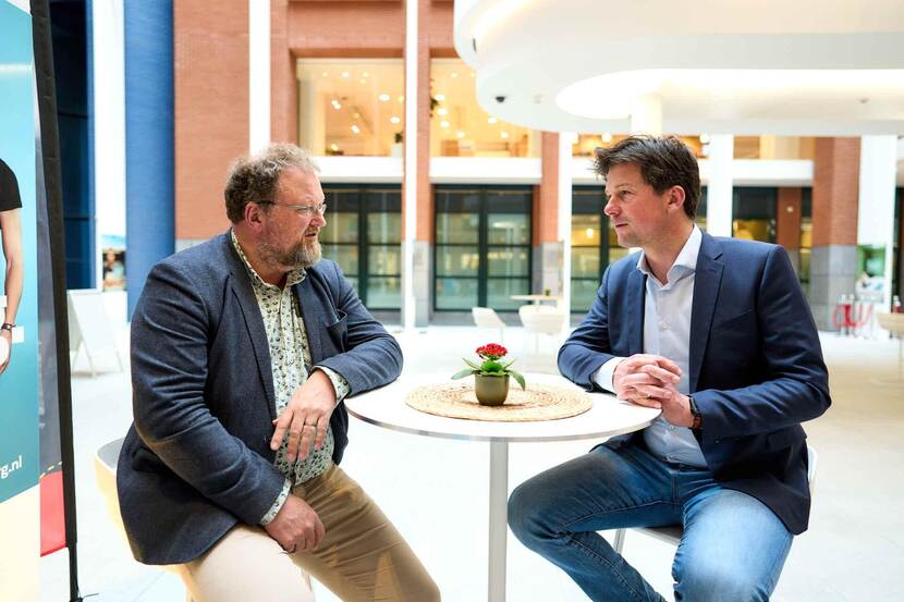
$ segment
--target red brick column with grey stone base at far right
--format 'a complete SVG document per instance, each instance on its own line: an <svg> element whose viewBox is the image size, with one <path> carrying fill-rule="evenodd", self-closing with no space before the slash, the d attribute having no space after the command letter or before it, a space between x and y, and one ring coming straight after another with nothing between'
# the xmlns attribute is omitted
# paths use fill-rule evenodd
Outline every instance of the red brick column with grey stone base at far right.
<svg viewBox="0 0 904 602"><path fill-rule="evenodd" d="M813 170L810 308L820 330L833 330L832 312L857 279L857 200L860 140L817 138Z"/></svg>

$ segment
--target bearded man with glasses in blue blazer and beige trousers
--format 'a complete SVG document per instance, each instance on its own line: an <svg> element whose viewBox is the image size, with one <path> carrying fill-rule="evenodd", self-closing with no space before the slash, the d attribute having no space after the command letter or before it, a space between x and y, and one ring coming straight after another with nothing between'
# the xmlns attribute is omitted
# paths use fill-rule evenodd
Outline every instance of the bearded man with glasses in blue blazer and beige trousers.
<svg viewBox="0 0 904 602"><path fill-rule="evenodd" d="M135 422L117 474L135 557L178 564L197 601L439 600L402 536L338 466L342 401L393 381L402 353L320 259L309 157L239 159L232 228L150 272L132 321Z"/></svg>

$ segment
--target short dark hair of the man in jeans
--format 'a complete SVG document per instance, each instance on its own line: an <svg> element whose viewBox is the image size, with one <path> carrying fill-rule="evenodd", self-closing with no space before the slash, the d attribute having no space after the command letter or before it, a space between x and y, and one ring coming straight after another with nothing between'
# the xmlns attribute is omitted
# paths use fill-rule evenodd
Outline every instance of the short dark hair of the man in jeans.
<svg viewBox="0 0 904 602"><path fill-rule="evenodd" d="M594 172L606 179L612 165L633 163L644 181L662 194L672 186L684 188L684 212L692 220L700 199L700 168L694 152L680 138L631 136L595 151Z"/></svg>

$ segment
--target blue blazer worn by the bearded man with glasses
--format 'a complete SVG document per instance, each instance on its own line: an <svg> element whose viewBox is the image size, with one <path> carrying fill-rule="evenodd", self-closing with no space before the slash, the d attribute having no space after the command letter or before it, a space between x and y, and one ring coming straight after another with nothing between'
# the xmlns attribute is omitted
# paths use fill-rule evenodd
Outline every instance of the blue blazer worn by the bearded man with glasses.
<svg viewBox="0 0 904 602"><path fill-rule="evenodd" d="M294 293L313 363L342 374L350 395L395 380L398 343L334 262L309 268ZM138 561L184 563L236 523L260 521L283 484L269 446L273 377L257 299L229 233L148 275L132 319L132 403L117 488ZM338 464L349 441L344 404L330 425Z"/></svg>

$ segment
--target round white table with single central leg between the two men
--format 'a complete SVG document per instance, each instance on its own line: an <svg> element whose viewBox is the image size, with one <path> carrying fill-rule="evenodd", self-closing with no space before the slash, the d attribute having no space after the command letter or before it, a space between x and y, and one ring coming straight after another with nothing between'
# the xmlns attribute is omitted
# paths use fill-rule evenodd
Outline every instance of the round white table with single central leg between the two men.
<svg viewBox="0 0 904 602"><path fill-rule="evenodd" d="M489 517L489 602L505 600L505 539L508 536L509 443L601 439L633 432L649 426L659 416L658 409L622 402L614 395L591 393L590 409L559 420L535 422L490 422L445 418L418 411L405 404L416 386L451 382L449 373L405 374L381 389L345 400L349 413L371 425L387 429L490 444L490 517ZM577 389L562 377L525 374L527 388L534 383ZM465 381L467 382L467 381ZM513 386L516 386L514 382Z"/></svg>

